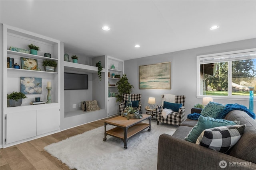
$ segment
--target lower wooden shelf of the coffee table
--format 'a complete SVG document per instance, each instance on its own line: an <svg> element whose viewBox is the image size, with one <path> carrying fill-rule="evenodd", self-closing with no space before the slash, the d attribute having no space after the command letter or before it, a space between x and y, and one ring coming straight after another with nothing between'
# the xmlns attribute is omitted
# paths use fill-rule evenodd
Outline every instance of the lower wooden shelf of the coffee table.
<svg viewBox="0 0 256 170"><path fill-rule="evenodd" d="M136 125L133 125L132 127L129 127L127 131L127 138L132 137L136 133L142 131L143 129L146 129L150 125L148 123L137 123ZM120 127L115 127L113 129L110 129L109 131L106 131L107 134L113 135L115 137L119 137L121 139L124 139L124 129Z"/></svg>

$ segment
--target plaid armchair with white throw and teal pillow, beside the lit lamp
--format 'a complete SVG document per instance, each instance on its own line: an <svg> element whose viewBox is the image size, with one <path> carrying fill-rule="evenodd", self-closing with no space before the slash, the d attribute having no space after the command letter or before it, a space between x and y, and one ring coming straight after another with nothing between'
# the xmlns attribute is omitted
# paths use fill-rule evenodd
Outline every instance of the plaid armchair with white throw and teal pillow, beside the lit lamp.
<svg viewBox="0 0 256 170"><path fill-rule="evenodd" d="M164 103L164 95L162 95L162 98ZM173 111L167 115L166 119L162 115L162 110L164 107L162 105L156 106L156 124L158 125L159 122L163 122L171 125L180 125L185 119L185 98L186 96L175 96L175 103L182 104L182 107L178 109L178 112Z"/></svg>

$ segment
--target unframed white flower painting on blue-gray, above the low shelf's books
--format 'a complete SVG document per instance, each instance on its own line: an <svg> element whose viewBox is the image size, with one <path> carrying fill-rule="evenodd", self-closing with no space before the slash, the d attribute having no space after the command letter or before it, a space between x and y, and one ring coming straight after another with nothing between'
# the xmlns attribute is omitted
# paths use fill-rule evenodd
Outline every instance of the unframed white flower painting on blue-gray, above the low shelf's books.
<svg viewBox="0 0 256 170"><path fill-rule="evenodd" d="M20 92L24 94L42 94L42 78L20 77Z"/></svg>

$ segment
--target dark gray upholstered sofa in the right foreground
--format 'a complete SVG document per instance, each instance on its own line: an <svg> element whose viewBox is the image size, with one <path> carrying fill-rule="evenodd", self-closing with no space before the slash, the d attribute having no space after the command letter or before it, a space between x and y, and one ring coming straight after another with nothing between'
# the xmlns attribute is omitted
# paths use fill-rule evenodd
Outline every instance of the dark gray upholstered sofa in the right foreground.
<svg viewBox="0 0 256 170"><path fill-rule="evenodd" d="M201 109L192 108L192 113L201 113ZM196 145L184 138L197 121L186 119L171 136L162 134L158 141L158 170L218 170L218 169L256 169L256 120L240 110L230 111L226 120L240 121L246 124L244 134L229 150L228 154ZM226 168L223 168L226 161ZM220 161L222 161L220 163ZM222 168L220 165L222 164Z"/></svg>

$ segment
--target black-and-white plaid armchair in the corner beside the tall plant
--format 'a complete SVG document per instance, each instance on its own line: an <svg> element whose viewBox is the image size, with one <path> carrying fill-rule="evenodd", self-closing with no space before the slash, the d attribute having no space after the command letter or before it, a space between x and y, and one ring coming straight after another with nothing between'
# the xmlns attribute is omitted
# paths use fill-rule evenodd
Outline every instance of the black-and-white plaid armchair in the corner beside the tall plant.
<svg viewBox="0 0 256 170"><path fill-rule="evenodd" d="M131 96L130 100L132 101L132 103L135 103L135 101L138 101L136 103L138 103L138 109L141 111L141 103L140 103L141 94L123 94L122 103L119 104L119 115L123 113L125 109L126 101L128 101L129 96ZM133 104L132 104L132 107L134 107Z"/></svg>

